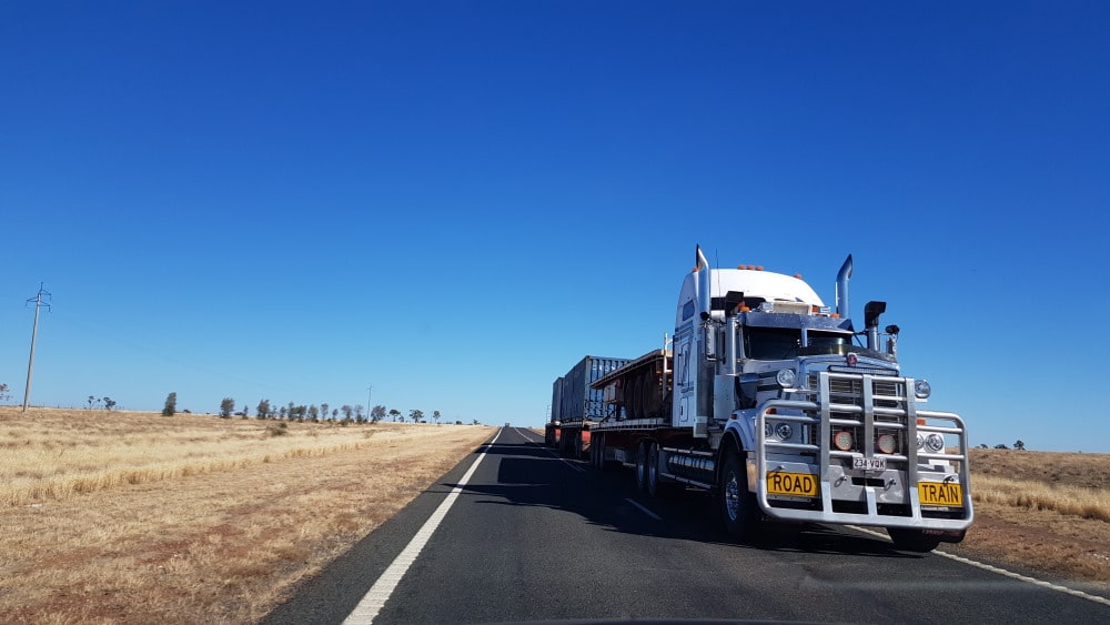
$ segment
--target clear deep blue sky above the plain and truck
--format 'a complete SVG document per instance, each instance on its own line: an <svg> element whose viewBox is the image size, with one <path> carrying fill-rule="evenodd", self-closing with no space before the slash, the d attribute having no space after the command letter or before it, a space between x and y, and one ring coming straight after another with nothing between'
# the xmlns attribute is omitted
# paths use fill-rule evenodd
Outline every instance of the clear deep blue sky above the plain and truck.
<svg viewBox="0 0 1110 625"><path fill-rule="evenodd" d="M231 4L231 6L229 6ZM888 302L973 444L1110 452L1106 2L6 2L0 382L539 425L702 244Z"/></svg>

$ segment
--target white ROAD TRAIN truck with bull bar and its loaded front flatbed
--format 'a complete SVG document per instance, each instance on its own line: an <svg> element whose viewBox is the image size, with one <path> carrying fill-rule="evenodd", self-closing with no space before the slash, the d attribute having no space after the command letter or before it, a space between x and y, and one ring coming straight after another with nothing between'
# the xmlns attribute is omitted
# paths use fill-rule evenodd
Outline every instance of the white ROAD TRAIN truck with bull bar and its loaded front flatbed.
<svg viewBox="0 0 1110 625"><path fill-rule="evenodd" d="M612 406L588 425L592 464L635 467L638 488L712 491L738 537L765 522L884 527L929 551L971 525L963 420L926 410L924 379L902 374L884 302L849 315L849 255L836 309L799 275L761 266L684 280L669 344L593 383Z"/></svg>

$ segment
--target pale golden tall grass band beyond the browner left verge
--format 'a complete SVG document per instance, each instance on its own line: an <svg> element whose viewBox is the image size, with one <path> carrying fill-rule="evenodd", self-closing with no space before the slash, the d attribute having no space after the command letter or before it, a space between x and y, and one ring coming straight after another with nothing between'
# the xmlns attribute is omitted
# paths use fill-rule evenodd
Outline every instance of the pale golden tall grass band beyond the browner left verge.
<svg viewBox="0 0 1110 625"><path fill-rule="evenodd" d="M214 415L0 409L0 505L357 450L403 424L275 423ZM280 433L280 434L279 434ZM285 435L287 434L287 435Z"/></svg>

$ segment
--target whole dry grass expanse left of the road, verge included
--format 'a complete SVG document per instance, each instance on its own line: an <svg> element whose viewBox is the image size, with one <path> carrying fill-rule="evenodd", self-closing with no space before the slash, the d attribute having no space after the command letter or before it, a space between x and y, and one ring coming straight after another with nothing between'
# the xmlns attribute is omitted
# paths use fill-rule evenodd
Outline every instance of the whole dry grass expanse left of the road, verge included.
<svg viewBox="0 0 1110 625"><path fill-rule="evenodd" d="M255 621L493 432L0 407L0 615Z"/></svg>

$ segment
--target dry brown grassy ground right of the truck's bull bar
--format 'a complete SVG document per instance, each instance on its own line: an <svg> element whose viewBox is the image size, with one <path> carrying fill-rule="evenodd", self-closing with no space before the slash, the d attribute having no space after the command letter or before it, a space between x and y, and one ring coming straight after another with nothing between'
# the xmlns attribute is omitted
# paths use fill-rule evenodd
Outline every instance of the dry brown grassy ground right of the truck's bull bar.
<svg viewBox="0 0 1110 625"><path fill-rule="evenodd" d="M1110 454L971 450L971 493L975 525L941 551L1110 593Z"/></svg>

